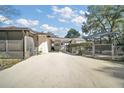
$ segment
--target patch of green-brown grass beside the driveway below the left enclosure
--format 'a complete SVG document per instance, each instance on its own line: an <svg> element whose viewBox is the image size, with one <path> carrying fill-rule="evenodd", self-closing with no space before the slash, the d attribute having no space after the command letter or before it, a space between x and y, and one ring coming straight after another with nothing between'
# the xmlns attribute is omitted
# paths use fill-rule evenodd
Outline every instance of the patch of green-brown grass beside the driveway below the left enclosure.
<svg viewBox="0 0 124 93"><path fill-rule="evenodd" d="M0 59L0 70L10 68L19 63L20 59Z"/></svg>

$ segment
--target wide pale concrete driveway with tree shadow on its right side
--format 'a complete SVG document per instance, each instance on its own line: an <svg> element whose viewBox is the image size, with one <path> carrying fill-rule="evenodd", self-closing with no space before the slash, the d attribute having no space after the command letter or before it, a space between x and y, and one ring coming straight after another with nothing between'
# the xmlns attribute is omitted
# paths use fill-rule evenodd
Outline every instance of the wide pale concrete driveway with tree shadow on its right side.
<svg viewBox="0 0 124 93"><path fill-rule="evenodd" d="M64 53L42 54L0 71L0 87L124 87L124 65Z"/></svg>

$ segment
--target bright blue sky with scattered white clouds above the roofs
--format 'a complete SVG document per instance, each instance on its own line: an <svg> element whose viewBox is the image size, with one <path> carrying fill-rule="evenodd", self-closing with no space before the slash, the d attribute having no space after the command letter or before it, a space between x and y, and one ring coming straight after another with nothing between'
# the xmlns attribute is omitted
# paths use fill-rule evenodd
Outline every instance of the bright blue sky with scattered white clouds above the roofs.
<svg viewBox="0 0 124 93"><path fill-rule="evenodd" d="M19 16L4 22L2 26L29 27L38 32L52 32L64 37L70 28L81 33L82 22L86 22L87 6L81 5L15 5ZM88 12L87 12L88 13ZM5 18L0 15L0 19Z"/></svg>

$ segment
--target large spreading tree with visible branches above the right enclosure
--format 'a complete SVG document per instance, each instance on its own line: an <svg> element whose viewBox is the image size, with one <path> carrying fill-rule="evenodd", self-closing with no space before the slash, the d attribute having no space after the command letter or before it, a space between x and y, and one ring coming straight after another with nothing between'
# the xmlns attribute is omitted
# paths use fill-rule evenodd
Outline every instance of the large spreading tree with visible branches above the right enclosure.
<svg viewBox="0 0 124 93"><path fill-rule="evenodd" d="M122 32L124 27L124 6L89 6L89 15L87 22L82 25L82 32L100 33L100 32ZM109 42L111 37L109 36Z"/></svg>

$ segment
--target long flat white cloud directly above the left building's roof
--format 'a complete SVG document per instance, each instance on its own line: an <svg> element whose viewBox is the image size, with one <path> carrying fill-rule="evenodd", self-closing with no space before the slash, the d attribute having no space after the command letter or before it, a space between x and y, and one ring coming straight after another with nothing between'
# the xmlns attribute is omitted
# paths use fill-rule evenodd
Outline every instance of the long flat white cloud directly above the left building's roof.
<svg viewBox="0 0 124 93"><path fill-rule="evenodd" d="M30 19L24 19L24 18L17 19L16 23L18 25L25 26L25 27L32 27L32 26L39 25L39 21L38 20L30 20Z"/></svg>

